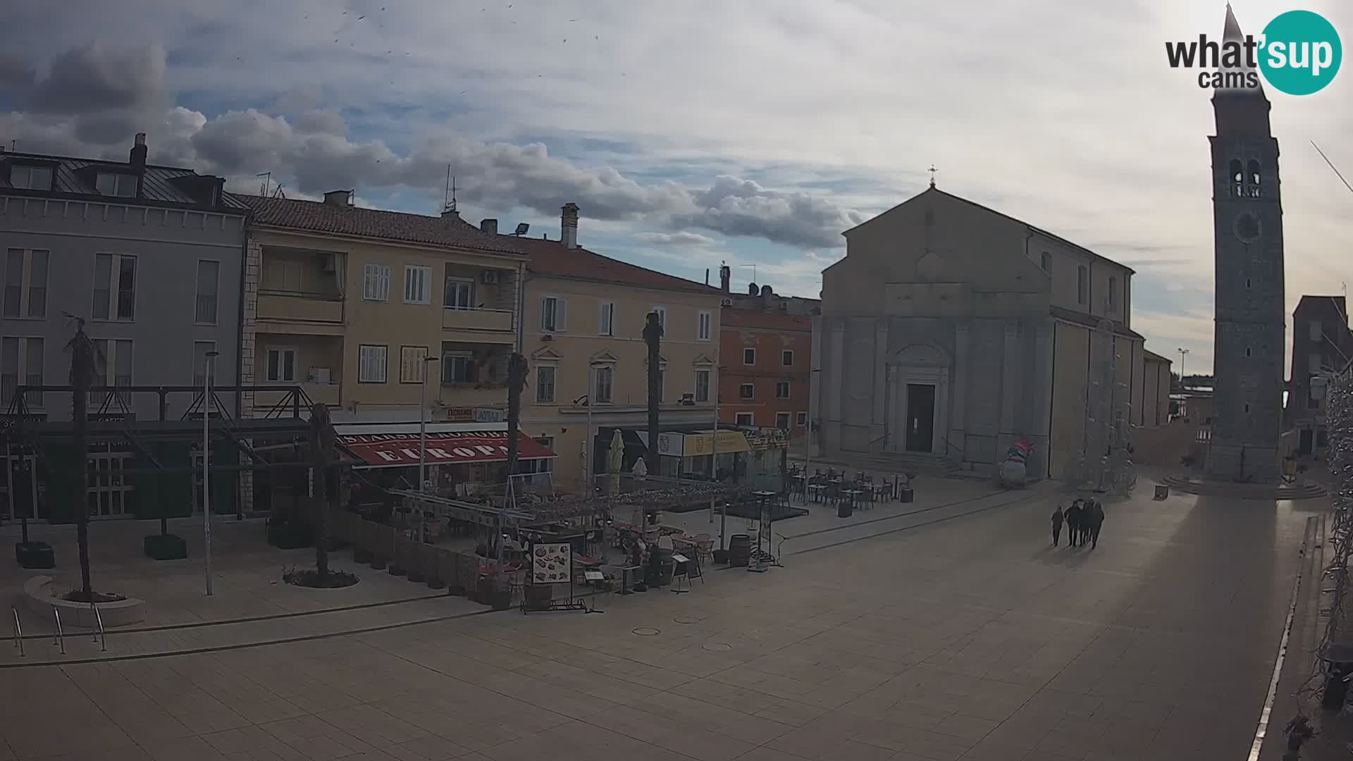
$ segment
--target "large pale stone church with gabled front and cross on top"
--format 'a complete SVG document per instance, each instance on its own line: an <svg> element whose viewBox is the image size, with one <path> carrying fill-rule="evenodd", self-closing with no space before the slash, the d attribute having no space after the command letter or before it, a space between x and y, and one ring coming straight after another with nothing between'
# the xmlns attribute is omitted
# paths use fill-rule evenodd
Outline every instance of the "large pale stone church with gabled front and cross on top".
<svg viewBox="0 0 1353 761"><path fill-rule="evenodd" d="M823 456L994 470L1026 440L1030 477L1059 478L1080 463L1096 409L1137 420L1131 268L934 184L844 236L815 320ZM1096 385L1105 352L1114 378Z"/></svg>

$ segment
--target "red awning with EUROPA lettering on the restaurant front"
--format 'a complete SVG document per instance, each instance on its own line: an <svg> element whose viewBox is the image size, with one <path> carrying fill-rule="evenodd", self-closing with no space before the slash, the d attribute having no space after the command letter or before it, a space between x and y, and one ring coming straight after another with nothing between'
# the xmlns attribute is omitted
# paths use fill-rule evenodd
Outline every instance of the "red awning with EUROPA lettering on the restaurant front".
<svg viewBox="0 0 1353 761"><path fill-rule="evenodd" d="M428 464L507 460L507 433L505 431L448 431L428 433L426 439ZM338 436L338 443L361 458L368 467L418 464L418 433ZM518 432L517 456L524 460L538 460L553 458L555 452Z"/></svg>

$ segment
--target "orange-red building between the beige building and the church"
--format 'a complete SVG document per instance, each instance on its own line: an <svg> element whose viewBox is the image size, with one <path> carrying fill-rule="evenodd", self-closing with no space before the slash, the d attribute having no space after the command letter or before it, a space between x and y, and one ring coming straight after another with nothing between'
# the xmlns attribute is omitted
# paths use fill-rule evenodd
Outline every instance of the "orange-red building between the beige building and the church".
<svg viewBox="0 0 1353 761"><path fill-rule="evenodd" d="M812 318L725 306L720 322L718 418L798 436L808 425Z"/></svg>

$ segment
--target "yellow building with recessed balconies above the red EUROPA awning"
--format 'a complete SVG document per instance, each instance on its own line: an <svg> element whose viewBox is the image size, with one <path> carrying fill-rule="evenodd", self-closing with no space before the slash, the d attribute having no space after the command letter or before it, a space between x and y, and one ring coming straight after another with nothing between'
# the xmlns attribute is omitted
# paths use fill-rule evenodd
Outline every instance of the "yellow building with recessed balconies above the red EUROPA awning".
<svg viewBox="0 0 1353 761"><path fill-rule="evenodd" d="M258 389L245 394L246 416L290 405L285 389L299 386L302 404L334 408L341 437L390 441L410 435L426 394L437 436L502 437L526 267L514 238L484 234L455 211L354 207L350 191L323 202L241 198L253 210L241 385ZM437 451L484 460L499 441L480 439ZM407 447L396 441L376 464L409 466Z"/></svg>

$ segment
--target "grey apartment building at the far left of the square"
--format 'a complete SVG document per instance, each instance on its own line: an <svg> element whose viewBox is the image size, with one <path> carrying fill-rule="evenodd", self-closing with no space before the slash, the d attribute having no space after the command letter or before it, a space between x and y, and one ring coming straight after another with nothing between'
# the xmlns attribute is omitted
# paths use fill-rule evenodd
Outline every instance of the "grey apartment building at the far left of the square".
<svg viewBox="0 0 1353 761"><path fill-rule="evenodd" d="M88 413L96 420L184 417L208 352L219 353L216 382L235 383L248 207L222 192L223 184L147 162L145 134L135 135L127 161L0 150L0 413L11 421L70 420L69 393L16 391L69 382L65 347L74 318L85 321L97 348L95 386L187 387L92 393ZM233 413L238 399L219 398ZM34 456L11 437L7 444L0 483ZM91 517L133 515L135 489L119 475L133 447L104 441L88 456L96 473ZM46 487L38 482L32 490L45 517ZM9 497L0 497L0 517L12 513Z"/></svg>

